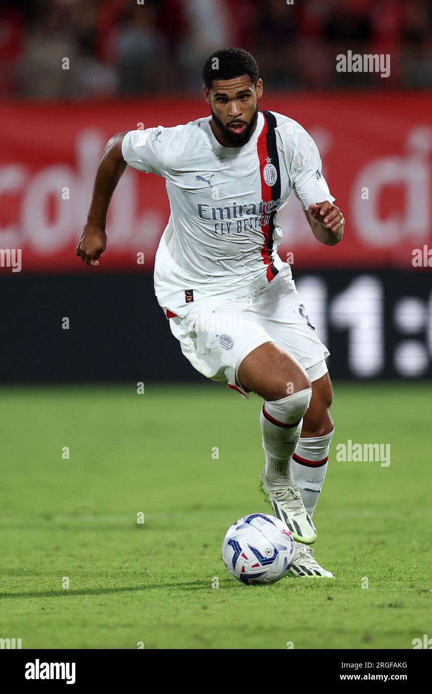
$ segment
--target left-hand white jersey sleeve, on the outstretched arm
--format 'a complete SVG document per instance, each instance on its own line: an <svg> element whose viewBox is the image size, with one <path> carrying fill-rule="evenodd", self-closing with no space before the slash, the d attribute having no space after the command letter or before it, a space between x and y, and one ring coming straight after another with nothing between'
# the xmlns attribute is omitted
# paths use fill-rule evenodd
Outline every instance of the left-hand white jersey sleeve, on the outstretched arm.
<svg viewBox="0 0 432 694"><path fill-rule="evenodd" d="M123 137L121 153L130 167L165 177L164 160L173 128L130 130Z"/></svg>

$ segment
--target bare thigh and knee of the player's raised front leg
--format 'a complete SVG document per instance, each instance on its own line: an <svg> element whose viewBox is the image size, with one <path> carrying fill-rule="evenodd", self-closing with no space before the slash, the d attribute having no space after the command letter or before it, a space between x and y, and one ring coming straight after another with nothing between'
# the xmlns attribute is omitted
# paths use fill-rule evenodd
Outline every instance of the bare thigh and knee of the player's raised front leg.
<svg viewBox="0 0 432 694"><path fill-rule="evenodd" d="M237 378L244 389L265 400L280 400L311 387L302 365L276 342L252 350L241 362Z"/></svg>

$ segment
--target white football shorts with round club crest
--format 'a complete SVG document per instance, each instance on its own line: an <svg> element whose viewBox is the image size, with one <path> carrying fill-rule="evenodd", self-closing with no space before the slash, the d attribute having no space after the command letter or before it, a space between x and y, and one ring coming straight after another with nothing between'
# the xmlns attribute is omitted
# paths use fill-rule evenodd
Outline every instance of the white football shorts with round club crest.
<svg viewBox="0 0 432 694"><path fill-rule="evenodd" d="M191 305L184 318L169 319L171 332L192 366L248 398L237 378L243 359L265 342L277 342L309 374L327 373L329 350L317 337L295 289L282 269L263 289L242 298L214 296Z"/></svg>

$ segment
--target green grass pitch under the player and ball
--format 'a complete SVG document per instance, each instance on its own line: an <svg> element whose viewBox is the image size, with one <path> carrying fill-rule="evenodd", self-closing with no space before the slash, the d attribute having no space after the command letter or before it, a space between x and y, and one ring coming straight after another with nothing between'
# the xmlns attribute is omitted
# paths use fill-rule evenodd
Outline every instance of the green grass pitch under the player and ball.
<svg viewBox="0 0 432 694"><path fill-rule="evenodd" d="M243 586L221 543L240 516L271 512L257 489L259 398L207 382L143 395L133 383L2 389L0 637L22 648L411 649L432 636L429 390L335 384L314 520L316 557L336 579ZM390 466L336 462L348 439L390 443Z"/></svg>

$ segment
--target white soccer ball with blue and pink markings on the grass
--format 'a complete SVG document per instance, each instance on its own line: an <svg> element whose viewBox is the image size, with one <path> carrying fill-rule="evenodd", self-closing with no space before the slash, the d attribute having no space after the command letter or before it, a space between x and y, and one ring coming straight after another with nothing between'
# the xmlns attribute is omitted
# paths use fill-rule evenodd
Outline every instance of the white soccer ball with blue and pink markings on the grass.
<svg viewBox="0 0 432 694"><path fill-rule="evenodd" d="M251 514L228 529L222 559L242 583L276 583L290 569L294 548L293 533L279 518Z"/></svg>

